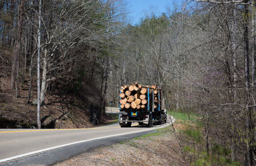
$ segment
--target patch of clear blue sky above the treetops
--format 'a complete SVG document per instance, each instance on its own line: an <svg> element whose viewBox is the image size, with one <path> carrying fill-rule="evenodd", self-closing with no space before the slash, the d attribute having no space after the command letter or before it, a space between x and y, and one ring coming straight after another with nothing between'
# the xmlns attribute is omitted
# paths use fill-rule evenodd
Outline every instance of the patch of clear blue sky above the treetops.
<svg viewBox="0 0 256 166"><path fill-rule="evenodd" d="M127 0L129 6L129 17L132 24L140 22L140 19L145 16L145 13L150 9L156 12L156 15L166 12L166 7L173 8L173 3L179 4L182 0Z"/></svg>

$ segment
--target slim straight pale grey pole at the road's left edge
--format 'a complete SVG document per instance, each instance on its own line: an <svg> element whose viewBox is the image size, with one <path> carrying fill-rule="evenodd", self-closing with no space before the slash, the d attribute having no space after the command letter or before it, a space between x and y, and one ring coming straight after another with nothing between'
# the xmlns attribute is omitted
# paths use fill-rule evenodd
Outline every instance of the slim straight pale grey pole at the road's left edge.
<svg viewBox="0 0 256 166"><path fill-rule="evenodd" d="M41 5L42 0L39 0L39 15L38 15L38 52L37 52L37 127L41 128L40 121L40 50L41 50Z"/></svg>

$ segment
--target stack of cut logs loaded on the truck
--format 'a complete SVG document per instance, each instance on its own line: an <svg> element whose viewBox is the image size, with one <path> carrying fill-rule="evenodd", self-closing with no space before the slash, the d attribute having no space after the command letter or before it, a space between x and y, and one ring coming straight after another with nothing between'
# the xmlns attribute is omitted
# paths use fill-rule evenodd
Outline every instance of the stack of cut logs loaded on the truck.
<svg viewBox="0 0 256 166"><path fill-rule="evenodd" d="M120 90L120 108L121 109L147 109L148 104L148 87L149 95L154 92L154 109L158 105L158 88L157 86L142 86L136 82L130 86L122 86Z"/></svg>

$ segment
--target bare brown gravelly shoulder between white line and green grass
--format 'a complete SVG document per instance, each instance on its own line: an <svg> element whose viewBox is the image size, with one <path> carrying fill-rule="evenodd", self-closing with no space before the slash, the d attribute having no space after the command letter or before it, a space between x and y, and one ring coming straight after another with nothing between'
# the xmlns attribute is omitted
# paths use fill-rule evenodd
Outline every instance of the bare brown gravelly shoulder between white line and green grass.
<svg viewBox="0 0 256 166"><path fill-rule="evenodd" d="M189 165L170 128L113 146L100 147L56 166L65 165Z"/></svg>

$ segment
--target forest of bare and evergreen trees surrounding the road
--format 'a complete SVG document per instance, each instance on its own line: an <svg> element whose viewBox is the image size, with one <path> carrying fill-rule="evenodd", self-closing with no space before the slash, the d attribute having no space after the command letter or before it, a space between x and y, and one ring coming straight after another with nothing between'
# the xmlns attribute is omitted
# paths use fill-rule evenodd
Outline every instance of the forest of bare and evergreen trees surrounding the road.
<svg viewBox="0 0 256 166"><path fill-rule="evenodd" d="M100 124L121 86L156 84L167 110L198 117L188 160L255 165L255 8L187 0L132 25L122 0L1 0L1 127L38 127L36 105L42 128Z"/></svg>

